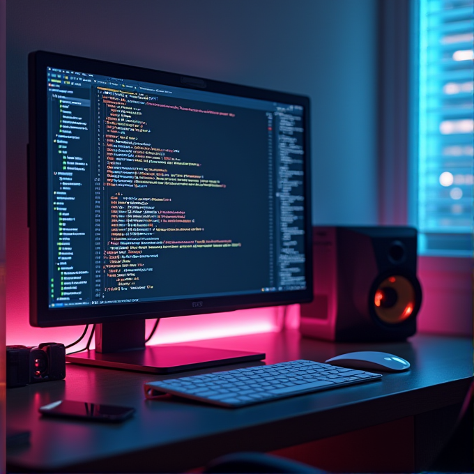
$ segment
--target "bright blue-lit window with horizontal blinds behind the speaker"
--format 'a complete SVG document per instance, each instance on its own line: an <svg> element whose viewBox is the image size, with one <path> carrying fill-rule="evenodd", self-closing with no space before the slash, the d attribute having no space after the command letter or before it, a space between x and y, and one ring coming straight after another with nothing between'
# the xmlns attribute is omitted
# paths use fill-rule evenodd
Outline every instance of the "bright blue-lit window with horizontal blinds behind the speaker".
<svg viewBox="0 0 474 474"><path fill-rule="evenodd" d="M417 6L411 222L420 254L472 257L474 0Z"/></svg>

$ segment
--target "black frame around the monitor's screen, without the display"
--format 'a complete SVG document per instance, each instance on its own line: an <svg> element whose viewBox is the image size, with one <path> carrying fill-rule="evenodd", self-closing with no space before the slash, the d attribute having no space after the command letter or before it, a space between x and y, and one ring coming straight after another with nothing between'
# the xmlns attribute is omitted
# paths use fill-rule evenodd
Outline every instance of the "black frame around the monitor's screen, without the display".
<svg viewBox="0 0 474 474"><path fill-rule="evenodd" d="M305 117L305 275L304 290L262 292L239 296L188 298L144 303L121 303L49 308L47 259L47 67L75 70L91 74L131 79L205 90L245 98L256 98L301 105ZM183 87L183 84L185 85ZM307 303L312 300L312 213L311 213L311 153L309 148L309 98L268 89L241 86L227 82L191 77L178 73L152 70L119 63L86 59L52 52L29 54L29 315L32 326L57 327L89 323L109 323L171 316L190 316L236 309ZM40 253L38 253L40 251ZM194 305L193 305L194 303Z"/></svg>

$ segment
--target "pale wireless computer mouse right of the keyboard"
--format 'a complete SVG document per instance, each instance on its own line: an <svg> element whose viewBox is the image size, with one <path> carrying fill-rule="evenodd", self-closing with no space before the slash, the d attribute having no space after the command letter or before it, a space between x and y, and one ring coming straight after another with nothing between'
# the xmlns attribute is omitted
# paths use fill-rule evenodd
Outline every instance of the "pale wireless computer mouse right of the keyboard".
<svg viewBox="0 0 474 474"><path fill-rule="evenodd" d="M330 358L326 360L326 363L349 369L372 369L384 372L399 372L410 368L410 362L398 355L376 351L349 352Z"/></svg>

